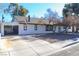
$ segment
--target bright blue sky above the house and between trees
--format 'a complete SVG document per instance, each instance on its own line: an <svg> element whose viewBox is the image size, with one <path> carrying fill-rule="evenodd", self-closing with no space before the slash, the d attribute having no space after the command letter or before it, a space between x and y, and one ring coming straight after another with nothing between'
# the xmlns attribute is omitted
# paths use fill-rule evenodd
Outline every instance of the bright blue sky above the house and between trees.
<svg viewBox="0 0 79 59"><path fill-rule="evenodd" d="M0 3L0 19L3 14L3 9L7 8L9 3ZM44 17L44 14L47 12L46 10L50 8L52 11L56 11L60 17L62 17L62 9L64 7L64 3L19 3L26 9L28 9L31 17ZM9 14L4 14L5 21L11 21L11 16Z"/></svg>

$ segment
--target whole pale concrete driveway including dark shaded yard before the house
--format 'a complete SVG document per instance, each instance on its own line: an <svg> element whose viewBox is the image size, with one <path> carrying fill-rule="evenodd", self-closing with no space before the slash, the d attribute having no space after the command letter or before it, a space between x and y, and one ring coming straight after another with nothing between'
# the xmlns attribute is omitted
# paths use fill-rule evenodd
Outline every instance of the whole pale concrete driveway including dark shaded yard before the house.
<svg viewBox="0 0 79 59"><path fill-rule="evenodd" d="M26 36L6 36L5 48L10 56L43 56L49 55L64 47L78 43L75 35L44 34Z"/></svg>

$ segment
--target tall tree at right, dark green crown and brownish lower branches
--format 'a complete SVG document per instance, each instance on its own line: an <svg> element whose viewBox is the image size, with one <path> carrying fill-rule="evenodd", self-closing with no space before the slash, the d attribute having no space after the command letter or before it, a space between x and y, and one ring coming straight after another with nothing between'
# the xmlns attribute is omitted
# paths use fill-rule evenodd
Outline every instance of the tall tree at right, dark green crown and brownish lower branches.
<svg viewBox="0 0 79 59"><path fill-rule="evenodd" d="M79 23L77 19L79 16L79 3L65 4L63 8L63 16L65 24L72 26L72 31L74 32L74 26Z"/></svg>

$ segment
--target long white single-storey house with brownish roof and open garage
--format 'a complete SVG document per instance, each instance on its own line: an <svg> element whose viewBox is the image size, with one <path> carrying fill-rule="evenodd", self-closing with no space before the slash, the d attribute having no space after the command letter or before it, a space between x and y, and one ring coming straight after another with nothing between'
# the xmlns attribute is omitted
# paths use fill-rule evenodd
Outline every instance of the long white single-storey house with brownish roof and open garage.
<svg viewBox="0 0 79 59"><path fill-rule="evenodd" d="M0 30L1 35L46 34L63 32L64 26L43 18L15 16L12 22L1 23Z"/></svg>

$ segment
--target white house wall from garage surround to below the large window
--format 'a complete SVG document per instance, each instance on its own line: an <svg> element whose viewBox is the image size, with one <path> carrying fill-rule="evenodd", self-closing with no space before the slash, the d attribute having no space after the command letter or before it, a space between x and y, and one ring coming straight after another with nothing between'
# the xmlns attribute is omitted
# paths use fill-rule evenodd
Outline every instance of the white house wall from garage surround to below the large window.
<svg viewBox="0 0 79 59"><path fill-rule="evenodd" d="M35 25L27 24L27 30L24 30L24 24L18 23L2 23L1 24L1 35L4 36L4 26L10 25L15 26L18 25L18 34L25 35L25 34L41 34L41 33L53 33L53 31L46 31L45 25L37 25L37 30L34 29Z"/></svg>

